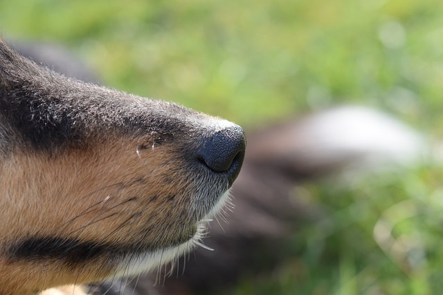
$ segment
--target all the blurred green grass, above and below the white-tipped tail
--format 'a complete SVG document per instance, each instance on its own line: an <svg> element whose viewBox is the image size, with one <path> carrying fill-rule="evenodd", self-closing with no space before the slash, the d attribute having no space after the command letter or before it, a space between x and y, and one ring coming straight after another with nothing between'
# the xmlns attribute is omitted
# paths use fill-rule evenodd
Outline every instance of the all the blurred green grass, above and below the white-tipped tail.
<svg viewBox="0 0 443 295"><path fill-rule="evenodd" d="M217 292L440 294L442 11L437 0L0 0L0 35L64 46L106 86L246 130L343 104L413 126L426 160L299 182L321 217L298 224L281 263Z"/></svg>

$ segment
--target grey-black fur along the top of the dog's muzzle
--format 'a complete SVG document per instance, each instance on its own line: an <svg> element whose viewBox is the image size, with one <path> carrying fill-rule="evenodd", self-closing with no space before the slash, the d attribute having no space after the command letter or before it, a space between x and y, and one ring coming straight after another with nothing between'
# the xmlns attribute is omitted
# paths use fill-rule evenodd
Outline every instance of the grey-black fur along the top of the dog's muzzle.
<svg viewBox="0 0 443 295"><path fill-rule="evenodd" d="M0 42L0 116L11 129L0 137L18 134L34 150L53 151L82 146L104 132L153 135L156 144L177 134L186 138L190 128L183 118L199 113L64 77Z"/></svg>

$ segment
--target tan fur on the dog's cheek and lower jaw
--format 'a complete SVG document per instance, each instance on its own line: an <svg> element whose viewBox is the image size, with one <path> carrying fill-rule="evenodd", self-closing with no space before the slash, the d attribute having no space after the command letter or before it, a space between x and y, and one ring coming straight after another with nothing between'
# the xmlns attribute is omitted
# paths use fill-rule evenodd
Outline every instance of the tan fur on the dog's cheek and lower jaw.
<svg viewBox="0 0 443 295"><path fill-rule="evenodd" d="M71 151L62 159L23 153L1 162L0 214L8 218L2 220L0 241L33 233L100 242L192 236L196 220L187 219L192 204L188 191L195 184L168 153L168 146L137 151L138 144L114 138L93 144L95 149ZM162 196L177 198L172 203ZM26 216L21 215L24 211ZM123 225L125 220L129 222ZM148 236L147 227L153 229ZM40 265L0 258L0 265L0 294L32 293L73 280L57 261ZM93 261L78 270L75 281L107 278L113 271L112 265Z"/></svg>

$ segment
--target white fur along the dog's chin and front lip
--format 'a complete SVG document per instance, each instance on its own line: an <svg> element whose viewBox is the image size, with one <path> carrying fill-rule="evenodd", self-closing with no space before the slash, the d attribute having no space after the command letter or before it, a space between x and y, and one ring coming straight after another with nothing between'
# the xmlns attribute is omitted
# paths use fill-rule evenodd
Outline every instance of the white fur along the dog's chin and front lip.
<svg viewBox="0 0 443 295"><path fill-rule="evenodd" d="M217 218L218 215L224 213L224 206L226 203L230 204L230 191L226 191L219 198L219 201L213 209L201 220L197 222L197 231L186 242L181 243L178 246L165 247L156 251L147 251L143 254L129 254L122 262L119 263L116 273L112 278L136 276L149 272L160 265L166 263L175 263L175 261L183 255L188 254L195 247L203 247L208 251L213 251L210 247L204 245L201 240L206 236L208 223L212 221L212 218Z"/></svg>

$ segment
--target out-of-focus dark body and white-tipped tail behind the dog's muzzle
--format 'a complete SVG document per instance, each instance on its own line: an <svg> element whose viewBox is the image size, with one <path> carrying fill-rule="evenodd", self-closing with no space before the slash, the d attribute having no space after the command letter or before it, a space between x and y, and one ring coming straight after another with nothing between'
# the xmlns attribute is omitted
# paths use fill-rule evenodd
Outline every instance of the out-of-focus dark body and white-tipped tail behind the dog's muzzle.
<svg viewBox="0 0 443 295"><path fill-rule="evenodd" d="M15 48L64 75L98 80L59 45L15 42ZM132 282L112 278L94 284L90 294L212 294L232 287L245 273L272 272L290 255L282 254L286 238L323 216L300 198L300 182L342 173L343 181L372 169L413 164L426 146L421 134L399 120L363 106L338 106L250 129L242 173L231 189L235 209L228 222L213 222L205 238L214 251L197 247L195 255L174 263L170 277L163 267ZM48 292L60 294L60 288Z"/></svg>

